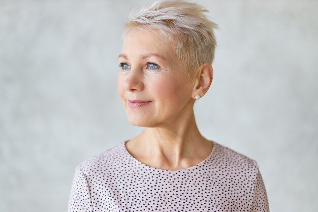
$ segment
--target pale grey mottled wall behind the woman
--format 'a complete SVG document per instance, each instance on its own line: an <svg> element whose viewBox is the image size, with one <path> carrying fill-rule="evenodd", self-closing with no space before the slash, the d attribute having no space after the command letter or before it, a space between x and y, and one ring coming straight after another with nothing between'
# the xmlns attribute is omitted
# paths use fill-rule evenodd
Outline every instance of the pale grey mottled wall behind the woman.
<svg viewBox="0 0 318 212"><path fill-rule="evenodd" d="M66 211L75 166L142 130L116 77L147 2L0 0L0 211ZM317 211L318 2L197 2L220 26L200 131L258 162L271 211Z"/></svg>

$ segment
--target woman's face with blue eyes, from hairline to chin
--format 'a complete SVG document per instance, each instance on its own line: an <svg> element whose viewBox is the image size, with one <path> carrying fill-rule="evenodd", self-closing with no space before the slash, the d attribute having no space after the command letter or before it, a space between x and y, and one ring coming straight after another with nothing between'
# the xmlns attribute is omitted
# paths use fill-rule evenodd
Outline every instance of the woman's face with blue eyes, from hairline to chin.
<svg viewBox="0 0 318 212"><path fill-rule="evenodd" d="M193 109L193 80L186 77L171 41L156 31L134 29L119 55L118 94L132 125L174 124ZM130 101L144 101L146 104Z"/></svg>

